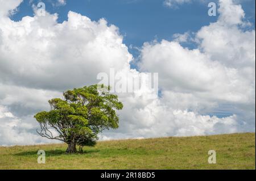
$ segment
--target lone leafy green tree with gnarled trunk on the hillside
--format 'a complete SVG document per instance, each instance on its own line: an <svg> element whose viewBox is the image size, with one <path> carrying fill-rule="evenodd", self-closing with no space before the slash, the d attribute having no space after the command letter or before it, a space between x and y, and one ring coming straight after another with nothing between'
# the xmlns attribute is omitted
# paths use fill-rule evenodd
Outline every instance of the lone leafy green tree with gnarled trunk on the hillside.
<svg viewBox="0 0 256 181"><path fill-rule="evenodd" d="M97 134L104 129L118 128L118 115L123 104L118 96L109 94L109 87L98 85L68 90L63 99L51 99L51 111L37 113L34 117L40 125L42 137L64 141L68 144L66 153L76 153L76 145L82 152L83 146L94 146ZM57 135L53 134L55 130Z"/></svg>

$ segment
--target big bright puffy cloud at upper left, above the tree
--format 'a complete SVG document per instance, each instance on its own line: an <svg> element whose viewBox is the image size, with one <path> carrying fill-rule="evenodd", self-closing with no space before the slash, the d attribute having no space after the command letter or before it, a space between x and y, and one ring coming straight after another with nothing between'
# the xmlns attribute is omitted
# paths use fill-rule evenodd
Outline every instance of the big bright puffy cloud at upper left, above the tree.
<svg viewBox="0 0 256 181"><path fill-rule="evenodd" d="M92 22L75 12L68 13L67 22L56 19L56 14L0 19L0 81L62 91L93 83L109 68L129 67L132 56L122 36L105 19Z"/></svg>

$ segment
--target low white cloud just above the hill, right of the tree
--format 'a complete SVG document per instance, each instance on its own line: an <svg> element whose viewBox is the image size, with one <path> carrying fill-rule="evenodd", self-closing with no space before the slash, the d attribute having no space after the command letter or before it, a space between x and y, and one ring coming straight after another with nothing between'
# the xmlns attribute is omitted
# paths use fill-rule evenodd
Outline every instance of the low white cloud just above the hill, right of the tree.
<svg viewBox="0 0 256 181"><path fill-rule="evenodd" d="M184 105L177 108L174 104L168 105L166 97L152 100L130 97L122 101L126 108L120 116L121 120L127 121L120 122L118 132L105 133L106 138L195 136L241 131L236 115L223 118L200 115L184 109Z"/></svg>

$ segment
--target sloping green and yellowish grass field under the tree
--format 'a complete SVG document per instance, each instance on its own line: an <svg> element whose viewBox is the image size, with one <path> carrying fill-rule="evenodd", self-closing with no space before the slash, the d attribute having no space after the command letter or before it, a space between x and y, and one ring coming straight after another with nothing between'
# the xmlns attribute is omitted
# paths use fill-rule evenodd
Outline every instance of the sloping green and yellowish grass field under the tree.
<svg viewBox="0 0 256 181"><path fill-rule="evenodd" d="M255 169L255 133L100 141L84 154L67 145L0 147L0 169ZM46 151L46 164L37 151ZM208 163L216 150L217 163Z"/></svg>

